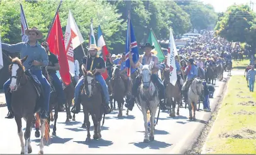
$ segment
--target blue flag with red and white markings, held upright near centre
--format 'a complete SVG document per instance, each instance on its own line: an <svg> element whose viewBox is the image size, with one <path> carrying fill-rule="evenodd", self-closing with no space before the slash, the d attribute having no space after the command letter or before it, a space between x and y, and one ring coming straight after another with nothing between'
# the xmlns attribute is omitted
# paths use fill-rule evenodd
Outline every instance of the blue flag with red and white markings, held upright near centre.
<svg viewBox="0 0 256 155"><path fill-rule="evenodd" d="M130 26L129 26L130 24ZM130 29L130 30L129 30ZM130 33L130 34L129 34ZM130 42L130 37L131 37L131 42ZM128 68L127 70L127 75L128 77L130 77L130 60L128 58L129 54L130 54L130 45L131 45L131 53L133 55L133 62L137 62L139 60L139 56L138 56L138 45L137 45L137 41L134 35L134 31L133 31L133 26L131 24L130 19L128 18L128 23L127 23L127 33L126 33L126 46L125 46L125 50L126 50L126 67ZM137 68L131 68L131 73L135 72L137 70Z"/></svg>

